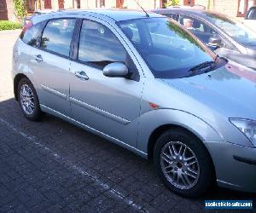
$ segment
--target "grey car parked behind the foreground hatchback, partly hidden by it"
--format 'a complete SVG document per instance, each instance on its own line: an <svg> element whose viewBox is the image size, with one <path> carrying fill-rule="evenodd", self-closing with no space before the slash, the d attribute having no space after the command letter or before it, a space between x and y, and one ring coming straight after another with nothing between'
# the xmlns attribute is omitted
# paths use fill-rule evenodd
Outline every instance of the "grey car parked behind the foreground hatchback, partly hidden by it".
<svg viewBox="0 0 256 213"><path fill-rule="evenodd" d="M155 9L154 12L177 20L217 55L256 71L256 33L238 21L224 14L191 7Z"/></svg>

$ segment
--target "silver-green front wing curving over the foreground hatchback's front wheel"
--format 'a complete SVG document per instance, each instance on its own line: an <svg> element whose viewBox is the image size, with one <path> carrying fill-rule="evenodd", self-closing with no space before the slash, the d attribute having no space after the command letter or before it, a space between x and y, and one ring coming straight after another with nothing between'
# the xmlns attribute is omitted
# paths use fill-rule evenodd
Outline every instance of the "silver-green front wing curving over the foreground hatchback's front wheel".
<svg viewBox="0 0 256 213"><path fill-rule="evenodd" d="M140 117L138 127L137 148L147 154L148 159L154 157L154 145L157 138L166 130L185 130L189 135L195 137L205 148L211 159L214 175L215 166L212 161L211 152L205 141L223 141L222 135L200 117L192 113L163 108L144 112Z"/></svg>

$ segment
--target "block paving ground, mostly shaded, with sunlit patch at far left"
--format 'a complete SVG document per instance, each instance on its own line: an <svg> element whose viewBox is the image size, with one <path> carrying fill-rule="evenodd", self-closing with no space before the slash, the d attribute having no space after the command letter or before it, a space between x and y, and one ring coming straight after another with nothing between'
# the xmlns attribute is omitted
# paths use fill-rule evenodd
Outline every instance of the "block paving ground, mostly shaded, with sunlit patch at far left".
<svg viewBox="0 0 256 213"><path fill-rule="evenodd" d="M0 212L190 213L205 199L253 199L256 211L255 194L220 188L183 199L134 153L49 115L27 121L9 72L19 33L0 32Z"/></svg>

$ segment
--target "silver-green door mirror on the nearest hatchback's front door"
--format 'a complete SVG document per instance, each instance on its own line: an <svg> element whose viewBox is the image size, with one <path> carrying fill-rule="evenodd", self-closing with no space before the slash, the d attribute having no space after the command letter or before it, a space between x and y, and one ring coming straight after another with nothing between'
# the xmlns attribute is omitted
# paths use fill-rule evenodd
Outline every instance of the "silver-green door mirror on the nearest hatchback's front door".
<svg viewBox="0 0 256 213"><path fill-rule="evenodd" d="M103 68L103 75L107 77L125 78L128 73L127 66L120 62L113 62Z"/></svg>

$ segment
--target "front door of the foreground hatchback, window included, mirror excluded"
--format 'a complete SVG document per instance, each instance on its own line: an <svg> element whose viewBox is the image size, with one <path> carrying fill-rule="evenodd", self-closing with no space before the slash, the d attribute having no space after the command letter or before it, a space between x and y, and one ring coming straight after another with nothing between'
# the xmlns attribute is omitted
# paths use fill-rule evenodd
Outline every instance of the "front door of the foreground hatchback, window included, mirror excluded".
<svg viewBox="0 0 256 213"><path fill-rule="evenodd" d="M123 62L132 78L108 78L104 66ZM107 26L84 20L79 38L77 61L71 64L73 76L70 101L73 118L118 139L137 146L137 125L143 78L119 39Z"/></svg>

